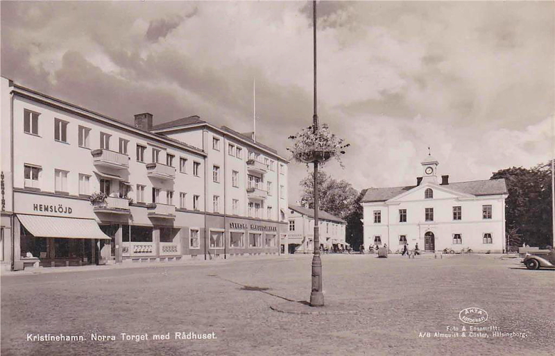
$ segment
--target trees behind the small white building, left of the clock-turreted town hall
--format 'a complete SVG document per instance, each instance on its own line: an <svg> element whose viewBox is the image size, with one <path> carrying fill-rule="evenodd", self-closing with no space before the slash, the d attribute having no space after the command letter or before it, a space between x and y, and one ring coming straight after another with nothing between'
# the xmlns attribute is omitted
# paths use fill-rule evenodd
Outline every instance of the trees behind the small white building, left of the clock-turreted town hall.
<svg viewBox="0 0 555 356"><path fill-rule="evenodd" d="M302 187L301 203L314 209L314 173L300 181ZM364 192L358 192L346 180L336 180L325 171L318 171L318 203L320 210L328 212L347 222L346 239L351 246L358 248L363 241L362 206Z"/></svg>

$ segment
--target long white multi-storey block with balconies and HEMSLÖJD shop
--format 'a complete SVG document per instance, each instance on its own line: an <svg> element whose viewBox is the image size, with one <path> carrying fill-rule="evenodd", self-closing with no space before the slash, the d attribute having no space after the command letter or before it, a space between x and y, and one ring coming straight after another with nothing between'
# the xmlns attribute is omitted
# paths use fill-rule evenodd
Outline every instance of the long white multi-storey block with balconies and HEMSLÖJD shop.
<svg viewBox="0 0 555 356"><path fill-rule="evenodd" d="M149 130L148 113L130 126L6 78L1 110L0 257L12 269L279 253L287 160L266 146L235 133L209 150L194 135ZM206 140L228 130L206 125ZM228 141L245 153L226 165ZM254 197L249 151L274 164L257 161L265 185ZM260 205L249 216L250 202Z"/></svg>

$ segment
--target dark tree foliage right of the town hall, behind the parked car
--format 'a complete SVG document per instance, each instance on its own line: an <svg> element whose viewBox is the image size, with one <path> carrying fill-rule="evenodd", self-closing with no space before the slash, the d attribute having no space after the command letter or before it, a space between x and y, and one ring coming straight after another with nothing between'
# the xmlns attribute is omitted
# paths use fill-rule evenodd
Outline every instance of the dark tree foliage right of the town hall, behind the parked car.
<svg viewBox="0 0 555 356"><path fill-rule="evenodd" d="M551 245L551 162L531 169L501 169L491 179L505 178L509 197L505 200L506 234L510 246Z"/></svg>

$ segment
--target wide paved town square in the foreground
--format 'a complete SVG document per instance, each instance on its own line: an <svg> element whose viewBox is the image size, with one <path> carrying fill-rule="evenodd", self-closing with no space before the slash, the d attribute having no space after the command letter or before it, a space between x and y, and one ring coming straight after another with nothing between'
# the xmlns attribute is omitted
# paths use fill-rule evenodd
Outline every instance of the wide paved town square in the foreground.
<svg viewBox="0 0 555 356"><path fill-rule="evenodd" d="M329 307L318 314L271 309L314 310L298 303L309 296L311 255L10 273L1 354L553 354L555 271L501 255L322 259ZM468 307L487 321L462 323Z"/></svg>

